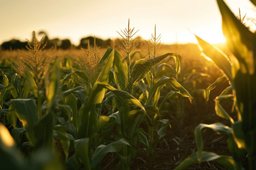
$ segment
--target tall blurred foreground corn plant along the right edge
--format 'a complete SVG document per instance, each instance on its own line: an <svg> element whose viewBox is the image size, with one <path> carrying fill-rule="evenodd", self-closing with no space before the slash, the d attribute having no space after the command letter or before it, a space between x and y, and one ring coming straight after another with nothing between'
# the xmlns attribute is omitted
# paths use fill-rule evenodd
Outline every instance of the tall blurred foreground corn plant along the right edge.
<svg viewBox="0 0 256 170"><path fill-rule="evenodd" d="M254 5L255 1L253 2ZM204 55L212 59L216 66L229 80L230 87L226 88L220 96L215 99L216 114L226 118L230 122L230 127L221 123L206 125L200 124L195 130L197 152L185 159L176 169L184 169L196 162L217 160L218 163L229 169L243 169L241 159L243 154L247 154L248 165L246 169L255 169L255 33L249 31L239 19L226 6L222 0L217 0L218 7L222 15L222 30L226 37L227 44L232 52L231 58L222 53L215 46L197 37L199 45ZM205 91L206 96L218 82L223 80L221 77L216 80ZM233 94L230 94L230 89ZM234 100L237 112L237 120L233 120L228 112L221 106L221 100ZM232 157L217 155L212 152L203 151L203 139L201 131L206 128L213 129L218 133L228 135L228 146Z"/></svg>

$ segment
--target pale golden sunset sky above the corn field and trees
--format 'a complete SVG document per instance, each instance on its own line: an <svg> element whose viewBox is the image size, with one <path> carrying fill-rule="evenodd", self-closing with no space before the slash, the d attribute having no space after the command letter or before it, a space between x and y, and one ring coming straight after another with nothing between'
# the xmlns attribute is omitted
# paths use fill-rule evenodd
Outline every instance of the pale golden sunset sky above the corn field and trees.
<svg viewBox="0 0 256 170"><path fill-rule="evenodd" d="M235 14L255 18L255 8L247 0L225 1ZM137 36L150 39L161 33L164 44L195 42L195 33L214 44L224 42L221 15L215 0L0 0L0 44L11 39L26 41L32 31L45 31L49 39L119 37L127 27Z"/></svg>

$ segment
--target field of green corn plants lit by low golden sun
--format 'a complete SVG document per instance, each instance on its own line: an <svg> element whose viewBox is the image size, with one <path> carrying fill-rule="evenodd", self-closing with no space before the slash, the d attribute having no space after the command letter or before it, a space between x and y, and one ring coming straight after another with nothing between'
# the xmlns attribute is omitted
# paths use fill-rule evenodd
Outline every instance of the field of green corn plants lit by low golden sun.
<svg viewBox="0 0 256 170"><path fill-rule="evenodd" d="M161 50L156 25L138 47L130 20L108 49L33 31L0 50L1 169L256 169L256 34L217 3L228 50L195 35L211 62Z"/></svg>

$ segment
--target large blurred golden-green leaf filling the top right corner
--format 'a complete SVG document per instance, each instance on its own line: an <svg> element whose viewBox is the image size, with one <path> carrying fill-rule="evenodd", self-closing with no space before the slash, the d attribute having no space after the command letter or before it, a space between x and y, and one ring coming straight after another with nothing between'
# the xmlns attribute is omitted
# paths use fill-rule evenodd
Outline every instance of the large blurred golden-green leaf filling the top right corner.
<svg viewBox="0 0 256 170"><path fill-rule="evenodd" d="M226 37L226 43L234 56L240 62L242 73L253 74L256 62L256 33L252 33L240 22L240 20L230 11L222 0L217 0L222 16L222 31Z"/></svg>

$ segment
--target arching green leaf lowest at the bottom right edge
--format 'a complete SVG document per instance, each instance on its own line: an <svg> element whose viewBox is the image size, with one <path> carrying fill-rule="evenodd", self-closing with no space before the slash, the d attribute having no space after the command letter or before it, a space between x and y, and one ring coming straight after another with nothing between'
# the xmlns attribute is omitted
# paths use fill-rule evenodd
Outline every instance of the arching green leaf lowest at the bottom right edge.
<svg viewBox="0 0 256 170"><path fill-rule="evenodd" d="M213 152L205 152L205 151L201 153L201 162L209 162L211 160L216 160L219 164L221 164L225 168L233 169L233 170L238 169L236 167L235 161L230 156L222 156L222 155L214 154ZM192 165L195 163L200 163L197 161L197 153L190 155L183 162L181 162L180 165L177 166L174 170L183 170L189 167L189 165Z"/></svg>

